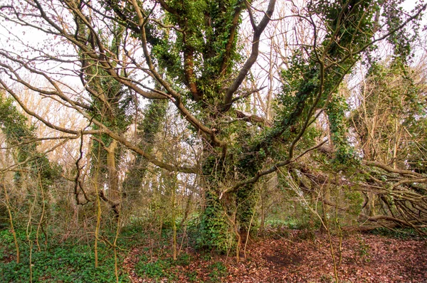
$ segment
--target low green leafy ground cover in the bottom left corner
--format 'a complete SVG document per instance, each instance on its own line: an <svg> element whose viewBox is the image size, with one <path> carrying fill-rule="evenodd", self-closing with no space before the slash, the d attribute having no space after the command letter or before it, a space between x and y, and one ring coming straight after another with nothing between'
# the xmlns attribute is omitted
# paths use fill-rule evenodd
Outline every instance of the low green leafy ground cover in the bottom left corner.
<svg viewBox="0 0 427 283"><path fill-rule="evenodd" d="M7 260L7 253L13 250L13 237L9 231L1 231L0 242L6 249L3 260L0 260L1 282L30 282L29 248L26 245L25 233L19 232L21 242L21 262ZM100 265L95 268L95 254L89 245L77 244L49 247L38 251L35 248L31 255L33 282L116 282L115 263L112 250L102 247L99 252ZM6 260L5 260L6 259ZM119 257L118 265L122 265ZM129 282L123 270L119 270L119 282Z"/></svg>

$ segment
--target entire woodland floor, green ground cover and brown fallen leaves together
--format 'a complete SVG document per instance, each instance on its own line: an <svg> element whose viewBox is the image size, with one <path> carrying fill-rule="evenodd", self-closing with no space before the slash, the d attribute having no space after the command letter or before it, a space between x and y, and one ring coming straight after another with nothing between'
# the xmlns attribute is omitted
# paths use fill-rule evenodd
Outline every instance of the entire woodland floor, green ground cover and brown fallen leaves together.
<svg viewBox="0 0 427 283"><path fill-rule="evenodd" d="M411 230L380 232L344 235L341 262L339 237L332 237L339 282L427 282L427 241ZM269 228L248 243L246 258L242 248L240 261L236 255L194 250L191 233L182 242L178 237L181 249L172 260L171 235L169 229L161 238L140 226L124 230L117 241L119 282L334 282L326 233ZM38 250L31 235L18 236L19 264L11 233L0 232L0 282L116 282L114 252L106 241L99 242L95 268L90 237L51 239L48 246L41 241Z"/></svg>

